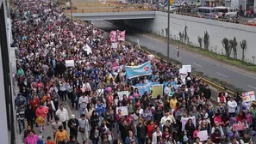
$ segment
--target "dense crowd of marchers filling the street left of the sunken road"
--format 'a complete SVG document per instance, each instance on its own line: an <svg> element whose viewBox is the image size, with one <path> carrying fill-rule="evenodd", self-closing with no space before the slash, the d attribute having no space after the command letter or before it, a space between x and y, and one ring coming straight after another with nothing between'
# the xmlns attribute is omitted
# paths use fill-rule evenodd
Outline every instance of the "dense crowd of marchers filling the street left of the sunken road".
<svg viewBox="0 0 256 144"><path fill-rule="evenodd" d="M151 59L137 45L119 41L113 49L108 33L71 20L53 3L12 1L11 18L12 45L19 49L16 114L25 144L253 143L256 107L243 105L238 93L220 92L214 106L199 75L181 75L178 65ZM66 60L74 66L66 67ZM126 78L126 65L148 61L152 75ZM112 69L113 63L120 68ZM163 95L151 99L151 93L133 88L148 82L163 84ZM122 91L129 94L120 100ZM128 115L116 111L120 106L128 106ZM233 130L240 123L243 129ZM41 135L46 125L53 130L47 141ZM200 140L204 130L206 139Z"/></svg>

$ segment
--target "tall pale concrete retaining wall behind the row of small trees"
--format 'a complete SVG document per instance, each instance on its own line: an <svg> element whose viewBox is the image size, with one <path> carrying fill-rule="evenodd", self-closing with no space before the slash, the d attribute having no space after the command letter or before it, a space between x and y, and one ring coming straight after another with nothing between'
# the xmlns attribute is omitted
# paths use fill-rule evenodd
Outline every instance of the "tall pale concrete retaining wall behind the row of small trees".
<svg viewBox="0 0 256 144"><path fill-rule="evenodd" d="M170 34L172 39L179 39L178 33L183 32L184 27L187 26L190 45L199 45L197 37L203 37L203 33L207 31L209 33L209 50L218 54L225 54L225 49L221 42L222 39L225 37L234 39L236 37L238 42L237 57L239 59L242 57L240 41L243 39L247 40L245 51L247 62L252 63L252 57L256 57L256 27L175 14L171 14L170 19ZM156 12L155 19L153 20L125 20L125 24L143 31L166 36L167 13ZM217 47L216 51L214 47ZM231 57L233 57L233 52L231 53Z"/></svg>

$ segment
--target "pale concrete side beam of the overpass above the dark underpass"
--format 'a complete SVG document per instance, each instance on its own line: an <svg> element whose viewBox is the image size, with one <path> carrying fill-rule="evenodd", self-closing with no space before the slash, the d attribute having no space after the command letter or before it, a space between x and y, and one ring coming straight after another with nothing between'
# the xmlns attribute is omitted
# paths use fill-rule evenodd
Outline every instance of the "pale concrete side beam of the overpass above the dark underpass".
<svg viewBox="0 0 256 144"><path fill-rule="evenodd" d="M91 13L73 13L83 21L96 20L134 20L134 19L154 19L154 11L122 11L122 12L91 12Z"/></svg>

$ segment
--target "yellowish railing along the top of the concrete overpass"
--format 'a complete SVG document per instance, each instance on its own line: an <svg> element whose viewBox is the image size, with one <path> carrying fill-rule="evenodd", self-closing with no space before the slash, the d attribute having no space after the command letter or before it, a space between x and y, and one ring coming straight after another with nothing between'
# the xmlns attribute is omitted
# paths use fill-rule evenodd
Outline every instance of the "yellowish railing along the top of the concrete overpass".
<svg viewBox="0 0 256 144"><path fill-rule="evenodd" d="M72 13L97 13L97 12L126 12L126 11L151 11L152 9L72 9ZM71 9L64 12L69 13Z"/></svg>

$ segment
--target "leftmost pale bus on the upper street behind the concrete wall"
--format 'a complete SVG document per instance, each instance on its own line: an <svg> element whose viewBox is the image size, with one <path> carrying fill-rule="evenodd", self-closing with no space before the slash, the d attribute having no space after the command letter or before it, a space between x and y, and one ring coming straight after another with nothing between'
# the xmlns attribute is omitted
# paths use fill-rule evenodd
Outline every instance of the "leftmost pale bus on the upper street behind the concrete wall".
<svg viewBox="0 0 256 144"><path fill-rule="evenodd" d="M198 15L205 18L215 19L218 16L218 9L214 7L198 7Z"/></svg>

